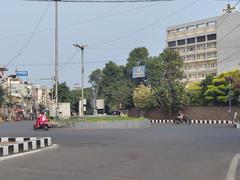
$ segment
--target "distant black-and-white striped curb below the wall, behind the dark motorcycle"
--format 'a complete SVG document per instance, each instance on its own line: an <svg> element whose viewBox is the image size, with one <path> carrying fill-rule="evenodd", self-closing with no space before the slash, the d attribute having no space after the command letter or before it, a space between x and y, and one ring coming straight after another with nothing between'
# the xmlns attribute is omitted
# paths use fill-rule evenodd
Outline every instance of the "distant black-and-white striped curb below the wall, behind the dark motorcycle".
<svg viewBox="0 0 240 180"><path fill-rule="evenodd" d="M161 119L150 120L152 124L155 123L173 123L173 120ZM234 124L232 120L191 120L192 124Z"/></svg>

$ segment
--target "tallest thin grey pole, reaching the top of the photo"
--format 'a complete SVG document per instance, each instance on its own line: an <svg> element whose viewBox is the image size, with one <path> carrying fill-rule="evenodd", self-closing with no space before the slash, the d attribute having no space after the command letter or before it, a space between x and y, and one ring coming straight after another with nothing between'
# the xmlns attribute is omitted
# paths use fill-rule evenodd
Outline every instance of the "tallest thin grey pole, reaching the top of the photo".
<svg viewBox="0 0 240 180"><path fill-rule="evenodd" d="M55 117L58 119L58 1L55 1Z"/></svg>

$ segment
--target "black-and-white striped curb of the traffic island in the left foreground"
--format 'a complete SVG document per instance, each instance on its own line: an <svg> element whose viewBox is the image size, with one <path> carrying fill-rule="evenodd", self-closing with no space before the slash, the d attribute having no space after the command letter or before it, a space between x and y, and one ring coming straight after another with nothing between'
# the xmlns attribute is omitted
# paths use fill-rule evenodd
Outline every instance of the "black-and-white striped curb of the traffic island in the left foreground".
<svg viewBox="0 0 240 180"><path fill-rule="evenodd" d="M50 137L1 137L0 157L52 146Z"/></svg>

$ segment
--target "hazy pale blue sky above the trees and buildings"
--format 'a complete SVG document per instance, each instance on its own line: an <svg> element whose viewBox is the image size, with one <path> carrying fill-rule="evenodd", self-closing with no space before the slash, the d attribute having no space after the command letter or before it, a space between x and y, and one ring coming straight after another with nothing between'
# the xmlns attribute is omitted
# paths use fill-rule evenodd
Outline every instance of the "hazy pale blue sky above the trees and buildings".
<svg viewBox="0 0 240 180"><path fill-rule="evenodd" d="M165 47L168 26L218 16L227 3L236 1L59 3L59 81L70 87L80 83L81 54L73 43L88 45L84 86L90 86L88 76L109 60L125 64L129 52L143 46L156 56ZM54 72L54 3L1 1L0 24L0 66L14 59L7 74L26 70L30 82L50 85L41 79Z"/></svg>

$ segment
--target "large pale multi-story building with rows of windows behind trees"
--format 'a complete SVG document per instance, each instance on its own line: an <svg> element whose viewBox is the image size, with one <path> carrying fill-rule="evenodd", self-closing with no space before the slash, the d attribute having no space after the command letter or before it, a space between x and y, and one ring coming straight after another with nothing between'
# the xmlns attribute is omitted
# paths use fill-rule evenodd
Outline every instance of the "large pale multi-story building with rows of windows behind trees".
<svg viewBox="0 0 240 180"><path fill-rule="evenodd" d="M167 28L167 47L184 62L185 81L200 81L239 68L240 12Z"/></svg>

